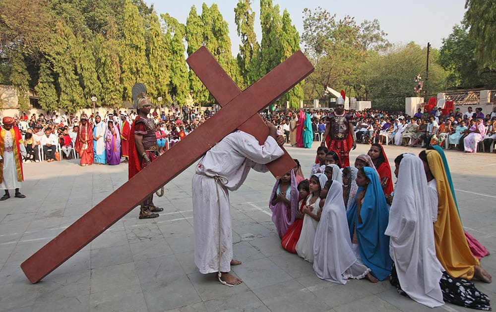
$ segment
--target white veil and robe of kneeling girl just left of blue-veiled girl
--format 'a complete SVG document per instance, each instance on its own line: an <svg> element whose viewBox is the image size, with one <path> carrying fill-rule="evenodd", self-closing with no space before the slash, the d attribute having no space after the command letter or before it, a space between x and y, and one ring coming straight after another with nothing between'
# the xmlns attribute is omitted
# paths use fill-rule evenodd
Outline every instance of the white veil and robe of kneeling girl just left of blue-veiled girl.
<svg viewBox="0 0 496 312"><path fill-rule="evenodd" d="M332 181L313 243L313 270L320 279L346 284L350 278L364 278L371 269L357 260L343 201L343 185Z"/></svg>

